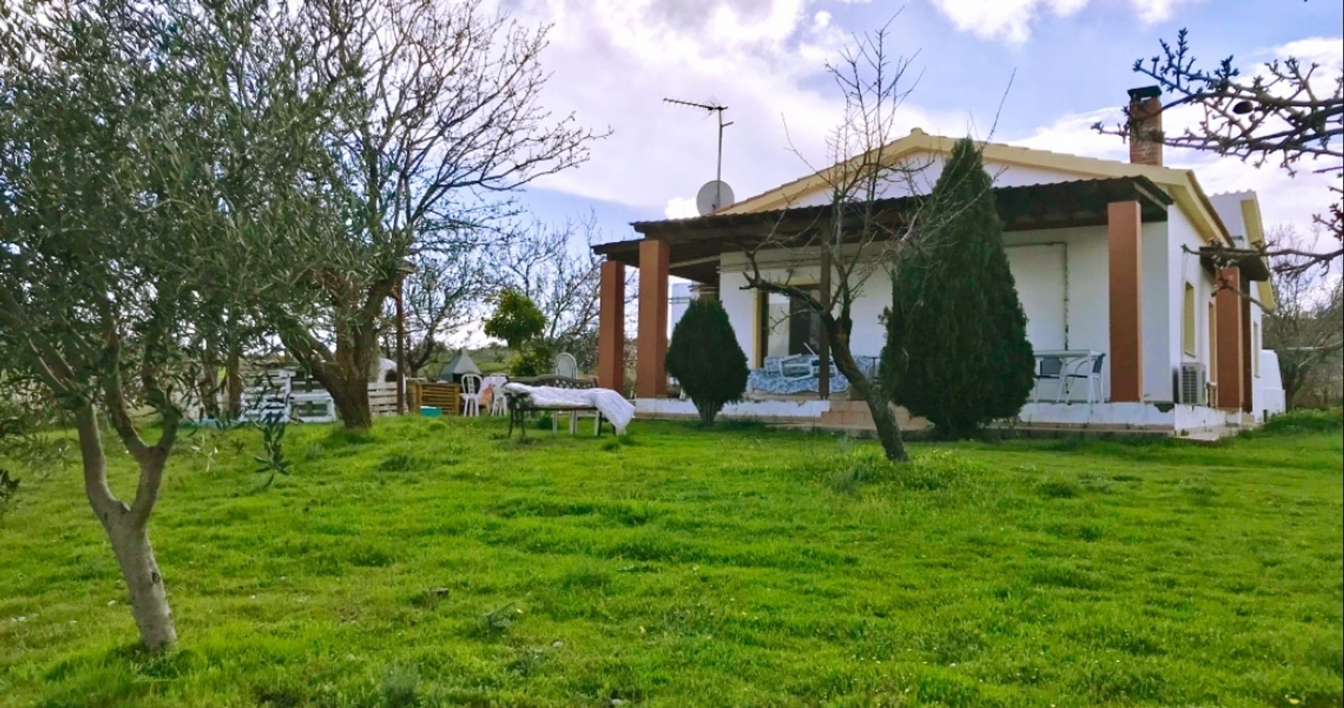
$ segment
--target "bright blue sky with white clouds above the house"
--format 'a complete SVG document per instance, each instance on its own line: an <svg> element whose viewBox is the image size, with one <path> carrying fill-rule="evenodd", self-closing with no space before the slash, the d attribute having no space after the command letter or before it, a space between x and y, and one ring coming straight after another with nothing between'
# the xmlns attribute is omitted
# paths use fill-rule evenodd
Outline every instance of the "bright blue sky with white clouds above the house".
<svg viewBox="0 0 1344 708"><path fill-rule="evenodd" d="M918 85L902 128L1075 154L1125 159L1098 136L1118 120L1125 90L1144 85L1133 60L1157 40L1191 30L1202 62L1232 54L1241 66L1284 55L1339 67L1339 0L500 0L534 24L552 24L543 63L546 101L610 128L583 167L521 196L543 219L594 210L607 239L634 238L628 222L695 212L696 189L714 177L715 124L664 97L718 101L734 121L723 176L738 197L810 172L839 117L825 62L856 32L891 20L890 47L914 56ZM899 15L898 15L899 11ZM1337 69L1336 69L1337 70ZM1011 81L1011 86L1009 86ZM1168 121L1171 124L1171 121ZM1169 125L1168 125L1169 128ZM1210 192L1251 188L1270 226L1306 224L1329 203L1325 177L1288 177L1266 167L1168 150L1196 168Z"/></svg>

